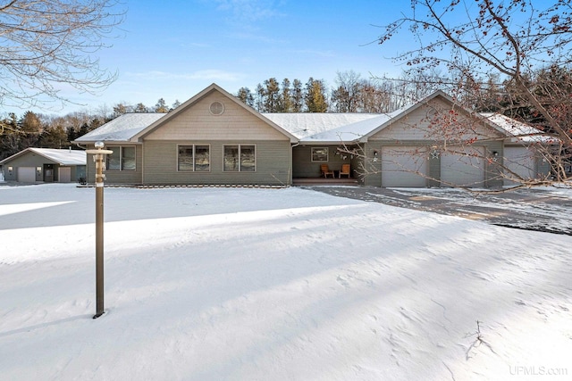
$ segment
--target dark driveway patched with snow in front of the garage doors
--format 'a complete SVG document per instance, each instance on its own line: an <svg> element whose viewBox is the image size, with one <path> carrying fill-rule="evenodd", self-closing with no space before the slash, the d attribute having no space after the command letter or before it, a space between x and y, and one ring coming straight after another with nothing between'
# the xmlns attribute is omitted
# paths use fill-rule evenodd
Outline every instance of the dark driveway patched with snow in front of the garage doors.
<svg viewBox="0 0 572 381"><path fill-rule="evenodd" d="M569 188L539 187L478 194L453 188L306 187L329 195L572 236L572 189Z"/></svg>

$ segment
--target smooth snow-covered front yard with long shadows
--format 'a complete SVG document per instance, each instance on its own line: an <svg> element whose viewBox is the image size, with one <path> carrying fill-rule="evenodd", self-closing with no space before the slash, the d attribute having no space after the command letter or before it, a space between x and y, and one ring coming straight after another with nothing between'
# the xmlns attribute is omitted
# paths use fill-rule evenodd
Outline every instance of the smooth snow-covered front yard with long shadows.
<svg viewBox="0 0 572 381"><path fill-rule="evenodd" d="M572 377L572 236L299 188L106 188L91 319L94 220L93 188L0 186L3 380Z"/></svg>

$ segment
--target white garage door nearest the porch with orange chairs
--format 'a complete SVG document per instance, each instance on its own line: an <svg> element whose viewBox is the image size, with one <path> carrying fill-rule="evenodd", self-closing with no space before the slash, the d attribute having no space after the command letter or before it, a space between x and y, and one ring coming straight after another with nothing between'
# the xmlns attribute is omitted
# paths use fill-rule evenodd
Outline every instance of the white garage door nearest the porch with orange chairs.
<svg viewBox="0 0 572 381"><path fill-rule="evenodd" d="M382 186L427 186L425 147L383 147Z"/></svg>

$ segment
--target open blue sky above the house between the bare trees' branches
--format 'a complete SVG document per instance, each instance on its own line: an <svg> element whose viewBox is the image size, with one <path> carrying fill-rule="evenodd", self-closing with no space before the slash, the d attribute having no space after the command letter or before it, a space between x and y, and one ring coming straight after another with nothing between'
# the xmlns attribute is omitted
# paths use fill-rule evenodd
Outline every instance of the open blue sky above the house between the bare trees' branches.
<svg viewBox="0 0 572 381"><path fill-rule="evenodd" d="M215 82L231 93L254 90L275 77L324 79L337 71L362 78L400 74L387 57L400 40L379 46L384 25L407 12L408 0L343 2L299 0L129 0L120 37L99 52L102 67L118 79L97 96L69 93L70 105L57 114L118 103L153 106L186 101ZM395 51L391 51L395 49ZM66 94L67 95L67 94ZM17 112L17 113L22 113ZM42 112L41 110L39 112ZM44 111L46 112L46 111Z"/></svg>

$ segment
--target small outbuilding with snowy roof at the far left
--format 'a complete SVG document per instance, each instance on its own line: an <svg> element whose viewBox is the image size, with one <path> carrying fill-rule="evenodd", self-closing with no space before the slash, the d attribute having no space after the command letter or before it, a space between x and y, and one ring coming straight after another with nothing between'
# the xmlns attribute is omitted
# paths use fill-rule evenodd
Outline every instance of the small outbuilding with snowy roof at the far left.
<svg viewBox="0 0 572 381"><path fill-rule="evenodd" d="M26 148L0 162L5 181L70 183L86 177L87 155L82 150Z"/></svg>

